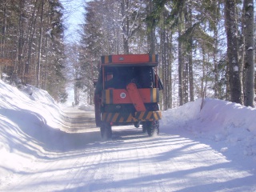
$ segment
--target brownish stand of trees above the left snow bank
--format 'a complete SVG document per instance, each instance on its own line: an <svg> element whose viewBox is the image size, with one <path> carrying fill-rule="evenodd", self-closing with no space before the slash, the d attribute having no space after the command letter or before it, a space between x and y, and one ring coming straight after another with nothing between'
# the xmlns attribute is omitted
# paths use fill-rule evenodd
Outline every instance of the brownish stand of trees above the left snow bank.
<svg viewBox="0 0 256 192"><path fill-rule="evenodd" d="M58 0L0 1L0 76L66 98L62 4Z"/></svg>

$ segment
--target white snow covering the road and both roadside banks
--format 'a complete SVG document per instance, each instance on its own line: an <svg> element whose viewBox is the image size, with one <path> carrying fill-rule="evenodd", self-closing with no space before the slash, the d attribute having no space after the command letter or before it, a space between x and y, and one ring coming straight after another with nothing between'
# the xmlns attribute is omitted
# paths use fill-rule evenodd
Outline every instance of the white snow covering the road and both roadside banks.
<svg viewBox="0 0 256 192"><path fill-rule="evenodd" d="M254 108L198 99L164 111L156 137L117 126L104 142L66 133L44 90L0 92L0 191L256 191Z"/></svg>

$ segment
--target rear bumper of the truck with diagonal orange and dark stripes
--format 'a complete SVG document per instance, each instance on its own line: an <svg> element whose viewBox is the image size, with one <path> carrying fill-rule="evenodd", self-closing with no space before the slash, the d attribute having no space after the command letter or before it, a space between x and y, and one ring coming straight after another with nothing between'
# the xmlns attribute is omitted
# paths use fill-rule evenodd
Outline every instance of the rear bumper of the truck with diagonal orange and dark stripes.
<svg viewBox="0 0 256 192"><path fill-rule="evenodd" d="M131 113L102 113L102 122L146 122L155 121L162 118L162 113L158 111L139 111Z"/></svg>

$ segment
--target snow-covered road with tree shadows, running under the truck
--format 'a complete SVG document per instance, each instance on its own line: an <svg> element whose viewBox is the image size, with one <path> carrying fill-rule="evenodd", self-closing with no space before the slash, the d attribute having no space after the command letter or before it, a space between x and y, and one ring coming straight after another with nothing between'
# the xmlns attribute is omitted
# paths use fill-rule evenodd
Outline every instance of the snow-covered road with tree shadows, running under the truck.
<svg viewBox="0 0 256 192"><path fill-rule="evenodd" d="M256 191L253 173L205 143L149 138L133 126L114 127L113 141L102 142L94 112L66 113L62 143L31 157L0 191Z"/></svg>

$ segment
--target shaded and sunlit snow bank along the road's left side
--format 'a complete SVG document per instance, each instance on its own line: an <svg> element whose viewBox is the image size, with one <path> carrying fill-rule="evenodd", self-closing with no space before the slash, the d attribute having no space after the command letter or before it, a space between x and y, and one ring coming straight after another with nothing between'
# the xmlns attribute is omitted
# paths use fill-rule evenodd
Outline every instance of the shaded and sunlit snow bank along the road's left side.
<svg viewBox="0 0 256 192"><path fill-rule="evenodd" d="M43 155L58 140L62 111L44 91L0 80L0 164L5 171L17 171L34 157ZM14 163L15 162L15 163Z"/></svg>

